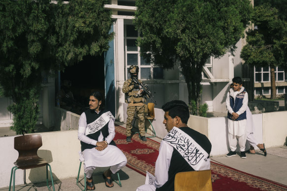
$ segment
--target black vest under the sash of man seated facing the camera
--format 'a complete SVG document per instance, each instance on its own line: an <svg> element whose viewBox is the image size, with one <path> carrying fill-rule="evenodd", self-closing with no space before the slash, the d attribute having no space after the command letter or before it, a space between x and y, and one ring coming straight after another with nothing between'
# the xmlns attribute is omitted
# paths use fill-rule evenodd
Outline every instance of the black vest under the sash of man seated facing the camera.
<svg viewBox="0 0 287 191"><path fill-rule="evenodd" d="M84 113L86 114L86 119L87 119L87 124L90 124L92 122L94 122L98 117L100 117L103 113L107 112L107 110L101 110L98 114L96 113L95 110L92 110L92 109L87 109ZM107 123L103 128L101 128L99 131L97 131L96 133L94 134L89 134L87 135L89 138L92 138L94 140L97 141L97 138L98 136L100 135L100 132L102 133L103 137L104 137L104 140L105 138L109 135L109 128L108 128L108 124ZM114 145L116 146L116 143L114 142L114 140L112 140L110 142L111 145ZM92 145L92 144L87 144L83 141L81 141L81 150L82 152L85 150L85 149L92 149L92 148L95 148L96 146L95 145Z"/></svg>

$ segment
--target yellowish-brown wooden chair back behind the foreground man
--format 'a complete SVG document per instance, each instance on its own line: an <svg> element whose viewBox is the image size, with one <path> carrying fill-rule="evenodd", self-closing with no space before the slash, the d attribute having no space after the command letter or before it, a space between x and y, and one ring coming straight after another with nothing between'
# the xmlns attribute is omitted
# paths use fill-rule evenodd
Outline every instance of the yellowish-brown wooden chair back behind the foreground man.
<svg viewBox="0 0 287 191"><path fill-rule="evenodd" d="M174 191L212 191L211 170L177 173Z"/></svg>

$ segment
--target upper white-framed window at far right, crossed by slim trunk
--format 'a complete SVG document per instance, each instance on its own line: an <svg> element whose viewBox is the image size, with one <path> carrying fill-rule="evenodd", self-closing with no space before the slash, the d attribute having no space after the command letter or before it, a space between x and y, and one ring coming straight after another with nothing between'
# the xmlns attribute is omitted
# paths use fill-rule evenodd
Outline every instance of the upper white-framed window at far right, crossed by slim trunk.
<svg viewBox="0 0 287 191"><path fill-rule="evenodd" d="M254 82L270 82L270 67L255 66ZM275 81L285 81L285 72L282 67L275 68Z"/></svg>

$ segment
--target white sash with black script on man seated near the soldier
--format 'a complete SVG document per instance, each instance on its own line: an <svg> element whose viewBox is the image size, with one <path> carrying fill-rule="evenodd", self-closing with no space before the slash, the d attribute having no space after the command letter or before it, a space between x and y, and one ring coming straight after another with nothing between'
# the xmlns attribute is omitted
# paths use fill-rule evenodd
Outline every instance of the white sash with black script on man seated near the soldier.
<svg viewBox="0 0 287 191"><path fill-rule="evenodd" d="M110 111L103 113L100 117L98 117L94 122L89 123L86 128L85 135L93 134L103 128L110 119L114 119L115 117Z"/></svg>

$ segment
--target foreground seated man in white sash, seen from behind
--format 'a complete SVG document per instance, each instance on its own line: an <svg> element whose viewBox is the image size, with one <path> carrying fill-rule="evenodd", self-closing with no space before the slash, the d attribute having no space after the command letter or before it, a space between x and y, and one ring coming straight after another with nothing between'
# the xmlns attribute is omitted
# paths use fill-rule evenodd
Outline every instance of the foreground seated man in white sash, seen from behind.
<svg viewBox="0 0 287 191"><path fill-rule="evenodd" d="M187 104L173 100L162 109L168 134L160 143L155 177L147 173L146 184L137 191L174 191L176 173L210 169L211 143L205 135L187 126L190 117Z"/></svg>

